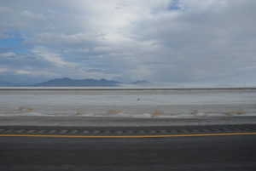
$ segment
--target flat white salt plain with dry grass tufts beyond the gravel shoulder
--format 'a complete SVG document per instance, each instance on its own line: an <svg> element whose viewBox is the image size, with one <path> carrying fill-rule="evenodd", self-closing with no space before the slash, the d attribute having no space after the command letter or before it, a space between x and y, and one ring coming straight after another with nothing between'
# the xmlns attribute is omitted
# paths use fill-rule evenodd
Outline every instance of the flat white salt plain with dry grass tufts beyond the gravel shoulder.
<svg viewBox="0 0 256 171"><path fill-rule="evenodd" d="M256 89L1 89L1 116L256 116Z"/></svg>

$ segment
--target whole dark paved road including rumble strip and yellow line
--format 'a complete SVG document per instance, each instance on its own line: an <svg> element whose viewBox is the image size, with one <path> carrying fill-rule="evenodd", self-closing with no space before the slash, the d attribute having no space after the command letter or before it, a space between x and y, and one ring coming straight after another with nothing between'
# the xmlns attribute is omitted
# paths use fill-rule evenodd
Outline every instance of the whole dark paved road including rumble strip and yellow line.
<svg viewBox="0 0 256 171"><path fill-rule="evenodd" d="M256 170L255 125L139 129L1 127L0 170Z"/></svg>

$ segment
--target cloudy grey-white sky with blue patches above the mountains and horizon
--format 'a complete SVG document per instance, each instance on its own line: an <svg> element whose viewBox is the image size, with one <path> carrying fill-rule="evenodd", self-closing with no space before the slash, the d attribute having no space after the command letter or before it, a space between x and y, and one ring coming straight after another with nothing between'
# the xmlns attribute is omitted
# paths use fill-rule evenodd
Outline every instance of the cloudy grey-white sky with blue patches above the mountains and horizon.
<svg viewBox="0 0 256 171"><path fill-rule="evenodd" d="M256 86L255 0L0 0L0 81Z"/></svg>

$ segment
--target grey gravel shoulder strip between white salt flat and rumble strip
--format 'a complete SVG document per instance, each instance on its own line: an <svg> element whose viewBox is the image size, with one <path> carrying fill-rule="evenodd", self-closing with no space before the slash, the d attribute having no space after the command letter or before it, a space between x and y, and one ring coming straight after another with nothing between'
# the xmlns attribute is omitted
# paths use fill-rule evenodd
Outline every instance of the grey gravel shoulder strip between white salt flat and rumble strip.
<svg viewBox="0 0 256 171"><path fill-rule="evenodd" d="M2 116L0 126L60 126L60 127L157 127L256 124L256 117L67 117L67 116Z"/></svg>

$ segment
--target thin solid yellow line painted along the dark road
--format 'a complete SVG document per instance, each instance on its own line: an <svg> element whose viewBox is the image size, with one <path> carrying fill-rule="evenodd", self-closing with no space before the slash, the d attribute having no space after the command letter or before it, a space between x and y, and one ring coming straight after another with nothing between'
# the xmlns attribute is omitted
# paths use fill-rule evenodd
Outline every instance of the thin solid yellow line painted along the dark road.
<svg viewBox="0 0 256 171"><path fill-rule="evenodd" d="M197 137L223 135L249 135L256 133L227 133L227 134L167 134L167 135L49 135L49 134L0 134L0 137L54 137L54 138L165 138L165 137Z"/></svg>

